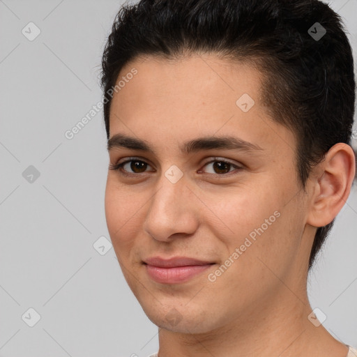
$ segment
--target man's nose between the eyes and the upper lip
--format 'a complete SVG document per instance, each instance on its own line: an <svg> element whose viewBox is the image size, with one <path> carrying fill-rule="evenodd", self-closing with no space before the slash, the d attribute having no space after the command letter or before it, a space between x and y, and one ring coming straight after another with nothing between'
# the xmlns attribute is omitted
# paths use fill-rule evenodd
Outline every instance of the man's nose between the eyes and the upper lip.
<svg viewBox="0 0 357 357"><path fill-rule="evenodd" d="M176 236L193 234L198 225L202 203L188 187L185 175L173 183L162 174L149 202L144 230L158 241L169 241Z"/></svg>

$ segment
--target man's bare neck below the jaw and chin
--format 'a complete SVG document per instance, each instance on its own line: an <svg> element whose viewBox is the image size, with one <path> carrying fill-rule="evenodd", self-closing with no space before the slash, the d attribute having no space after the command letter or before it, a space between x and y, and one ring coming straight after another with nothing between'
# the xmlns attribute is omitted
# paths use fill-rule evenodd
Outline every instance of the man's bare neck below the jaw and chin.
<svg viewBox="0 0 357 357"><path fill-rule="evenodd" d="M307 319L306 284L300 291L287 286L206 333L192 334L190 326L188 333L160 329L159 357L346 357L346 345Z"/></svg>

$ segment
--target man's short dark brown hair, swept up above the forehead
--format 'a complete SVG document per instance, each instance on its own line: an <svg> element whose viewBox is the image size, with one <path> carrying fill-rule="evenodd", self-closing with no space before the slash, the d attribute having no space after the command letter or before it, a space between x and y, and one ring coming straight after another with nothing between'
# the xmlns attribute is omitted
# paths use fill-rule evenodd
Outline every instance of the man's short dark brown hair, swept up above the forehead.
<svg viewBox="0 0 357 357"><path fill-rule="evenodd" d="M326 31L326 33L325 33ZM116 15L102 56L102 89L138 56L214 53L249 61L264 75L272 118L296 135L297 174L338 142L351 144L356 83L351 46L337 13L318 0L141 0ZM104 105L109 139L111 98ZM334 220L319 227L311 268Z"/></svg>

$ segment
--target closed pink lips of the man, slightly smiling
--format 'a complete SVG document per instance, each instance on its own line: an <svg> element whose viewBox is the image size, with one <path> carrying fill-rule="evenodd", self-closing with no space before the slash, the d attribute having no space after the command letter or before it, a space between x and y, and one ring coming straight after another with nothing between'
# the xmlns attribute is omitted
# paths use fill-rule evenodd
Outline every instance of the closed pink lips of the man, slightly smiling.
<svg viewBox="0 0 357 357"><path fill-rule="evenodd" d="M149 277L155 282L179 284L194 278L215 263L188 257L151 257L145 259L144 264Z"/></svg>

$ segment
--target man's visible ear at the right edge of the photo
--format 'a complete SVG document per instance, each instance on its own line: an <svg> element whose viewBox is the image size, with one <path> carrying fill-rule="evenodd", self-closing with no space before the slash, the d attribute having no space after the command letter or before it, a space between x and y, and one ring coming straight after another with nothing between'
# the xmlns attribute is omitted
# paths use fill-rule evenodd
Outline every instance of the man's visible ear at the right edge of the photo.
<svg viewBox="0 0 357 357"><path fill-rule="evenodd" d="M324 227L340 212L351 192L356 172L354 150L347 144L335 144L313 171L307 223Z"/></svg>

